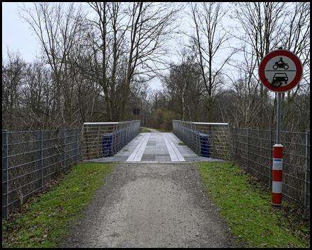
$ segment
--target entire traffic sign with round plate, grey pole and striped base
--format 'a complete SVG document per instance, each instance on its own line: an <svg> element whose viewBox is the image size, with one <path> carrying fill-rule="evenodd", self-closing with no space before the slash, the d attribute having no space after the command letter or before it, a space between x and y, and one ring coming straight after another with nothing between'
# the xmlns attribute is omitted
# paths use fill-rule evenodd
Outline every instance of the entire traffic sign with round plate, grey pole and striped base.
<svg viewBox="0 0 312 250"><path fill-rule="evenodd" d="M277 134L273 146L272 205L281 205L283 176L283 146L281 145L281 93L289 91L300 82L303 67L300 59L291 51L279 48L268 53L259 65L261 83L277 92Z"/></svg>

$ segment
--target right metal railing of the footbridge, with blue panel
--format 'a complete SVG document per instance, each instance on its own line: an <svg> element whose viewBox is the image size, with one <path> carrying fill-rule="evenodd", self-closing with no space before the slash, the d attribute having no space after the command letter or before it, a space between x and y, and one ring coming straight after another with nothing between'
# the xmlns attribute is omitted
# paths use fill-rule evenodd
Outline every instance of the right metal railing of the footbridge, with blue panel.
<svg viewBox="0 0 312 250"><path fill-rule="evenodd" d="M228 123L182 122L173 120L173 133L198 156L203 155L205 140L209 140L208 157L229 160L231 158L231 138ZM209 137L211 136L211 138ZM208 138L207 138L208 137Z"/></svg>

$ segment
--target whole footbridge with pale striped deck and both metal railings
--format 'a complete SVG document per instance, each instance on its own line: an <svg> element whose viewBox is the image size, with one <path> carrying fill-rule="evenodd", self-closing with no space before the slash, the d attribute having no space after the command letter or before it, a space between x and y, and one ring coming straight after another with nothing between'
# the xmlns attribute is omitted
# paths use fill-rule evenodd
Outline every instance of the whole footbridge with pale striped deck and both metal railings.
<svg viewBox="0 0 312 250"><path fill-rule="evenodd" d="M83 124L83 160L198 163L229 160L229 124L173 120L173 133L140 133L140 121Z"/></svg>

